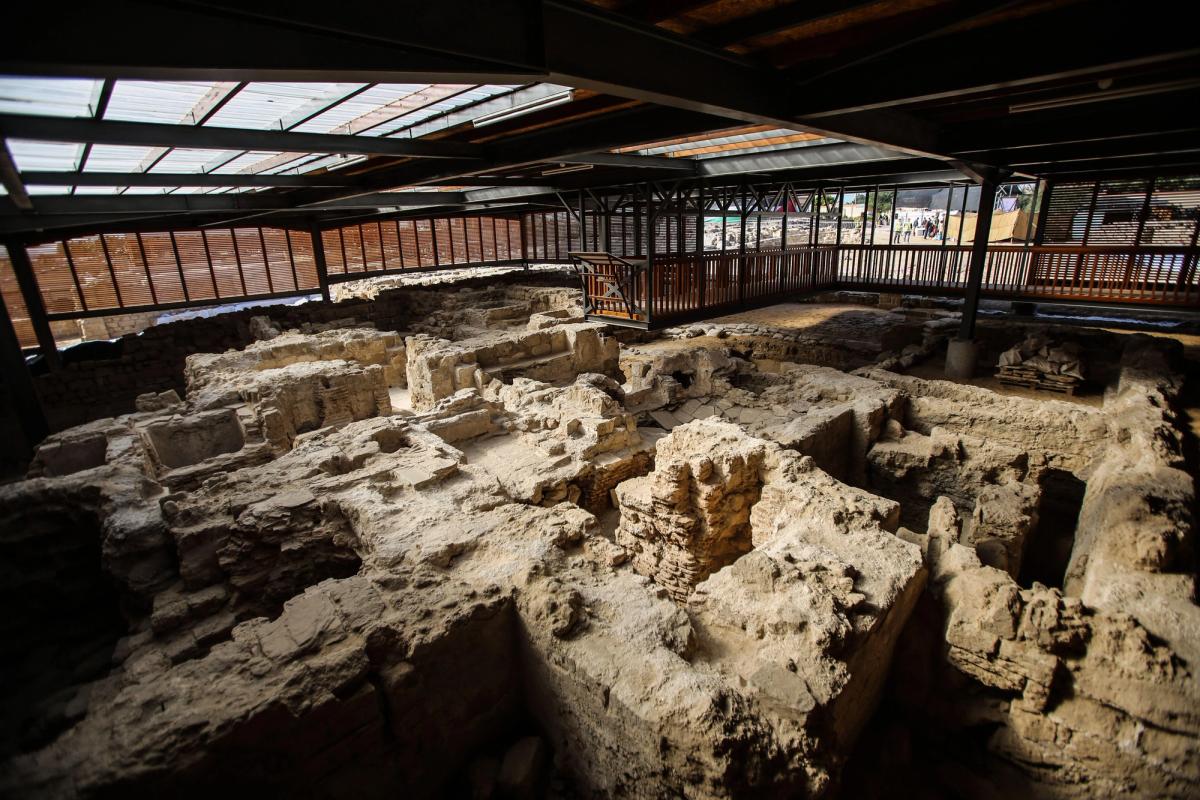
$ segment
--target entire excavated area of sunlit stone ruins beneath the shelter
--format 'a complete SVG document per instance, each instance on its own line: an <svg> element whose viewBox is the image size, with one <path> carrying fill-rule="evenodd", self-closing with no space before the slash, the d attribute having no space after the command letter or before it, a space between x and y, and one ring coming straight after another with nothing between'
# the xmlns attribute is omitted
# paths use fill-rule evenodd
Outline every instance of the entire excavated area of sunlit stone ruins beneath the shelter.
<svg viewBox="0 0 1200 800"><path fill-rule="evenodd" d="M0 487L0 794L1200 793L1170 341L980 324L1074 342L1061 397L932 379L920 305L419 301L257 319Z"/></svg>

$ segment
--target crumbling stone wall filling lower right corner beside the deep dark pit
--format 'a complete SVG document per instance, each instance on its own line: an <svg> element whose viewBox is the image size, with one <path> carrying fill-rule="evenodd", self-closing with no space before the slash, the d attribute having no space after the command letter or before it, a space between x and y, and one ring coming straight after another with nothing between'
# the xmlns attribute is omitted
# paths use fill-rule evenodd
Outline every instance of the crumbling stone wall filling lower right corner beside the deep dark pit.
<svg viewBox="0 0 1200 800"><path fill-rule="evenodd" d="M1004 792L1049 798L1200 790L1200 609L1186 566L1194 487L1176 467L1182 451L1170 408L1178 383L1168 354L1162 343L1128 341L1100 415L1112 433L1085 473L1064 590L1014 579L1021 536L1013 531L1025 527L1031 504L992 497L1003 486L982 493L971 518L940 498L928 535L900 531L930 565L931 613L919 619L938 626L944 650L906 649L895 692L935 748L922 757L954 792L979 790L995 775L1004 776ZM1058 410L1046 405L1048 417ZM1062 421L1043 429L1055 425ZM926 634L918 627L908 636ZM991 760L962 748L977 739ZM938 769L942 759L954 766Z"/></svg>

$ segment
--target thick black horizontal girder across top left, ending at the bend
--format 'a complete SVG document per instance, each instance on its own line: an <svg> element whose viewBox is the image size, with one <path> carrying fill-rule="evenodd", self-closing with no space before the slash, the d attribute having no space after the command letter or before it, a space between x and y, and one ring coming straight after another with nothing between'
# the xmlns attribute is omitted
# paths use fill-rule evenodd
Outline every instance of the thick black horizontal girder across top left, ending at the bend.
<svg viewBox="0 0 1200 800"><path fill-rule="evenodd" d="M272 7L274 6L274 7ZM113 0L104 13L64 14L52 4L6 10L11 36L0 54L8 74L143 80L296 80L336 83L502 83L535 80L529 7L521 0L454 0L326 6L259 1L150 4ZM251 13L253 11L253 13ZM274 14L271 13L274 11ZM353 20L353 22L350 22ZM410 29L430 47L390 35ZM53 31L40 36L38 31ZM473 55L448 53L458 42ZM215 59L215 48L221 58ZM217 61L222 66L214 66Z"/></svg>

